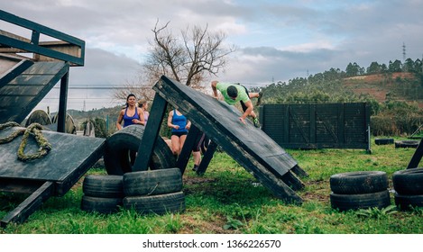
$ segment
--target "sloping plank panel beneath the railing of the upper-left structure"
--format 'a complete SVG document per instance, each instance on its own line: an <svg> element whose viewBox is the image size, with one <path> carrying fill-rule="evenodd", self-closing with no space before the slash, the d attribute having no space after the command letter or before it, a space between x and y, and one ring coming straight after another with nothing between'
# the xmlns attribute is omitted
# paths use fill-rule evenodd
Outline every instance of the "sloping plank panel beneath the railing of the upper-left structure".
<svg viewBox="0 0 423 252"><path fill-rule="evenodd" d="M0 85L0 123L22 122L69 71L65 62L36 62Z"/></svg>

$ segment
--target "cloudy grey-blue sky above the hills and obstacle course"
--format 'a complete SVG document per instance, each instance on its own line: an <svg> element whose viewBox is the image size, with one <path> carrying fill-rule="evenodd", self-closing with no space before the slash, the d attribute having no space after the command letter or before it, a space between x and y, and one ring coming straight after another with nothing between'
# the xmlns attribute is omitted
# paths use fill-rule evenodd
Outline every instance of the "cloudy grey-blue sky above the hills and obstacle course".
<svg viewBox="0 0 423 252"><path fill-rule="evenodd" d="M248 86L288 81L348 63L423 57L420 0L0 0L11 14L86 41L85 67L72 67L68 108L114 106L111 90L133 80L152 40L152 28L170 22L175 33L208 25L238 49L214 79ZM1 26L5 26L2 28ZM5 23L0 29L10 31ZM37 108L57 110L59 89Z"/></svg>

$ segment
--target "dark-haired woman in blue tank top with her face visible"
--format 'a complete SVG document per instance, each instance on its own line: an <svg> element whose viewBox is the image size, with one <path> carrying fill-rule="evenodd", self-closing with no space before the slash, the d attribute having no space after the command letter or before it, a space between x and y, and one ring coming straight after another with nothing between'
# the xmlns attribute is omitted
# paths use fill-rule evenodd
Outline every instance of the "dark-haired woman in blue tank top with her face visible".
<svg viewBox="0 0 423 252"><path fill-rule="evenodd" d="M141 109L136 107L135 94L128 94L126 97L126 108L121 110L121 112L119 112L119 116L117 117L117 130L122 130L122 128L133 124L144 125L142 112L143 111ZM124 121L124 127L122 127L122 121Z"/></svg>

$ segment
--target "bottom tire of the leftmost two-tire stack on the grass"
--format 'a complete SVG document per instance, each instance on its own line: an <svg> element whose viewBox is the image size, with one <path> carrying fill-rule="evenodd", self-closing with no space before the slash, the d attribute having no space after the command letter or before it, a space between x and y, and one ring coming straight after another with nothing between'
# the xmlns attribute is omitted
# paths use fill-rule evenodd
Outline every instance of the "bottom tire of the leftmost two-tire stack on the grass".
<svg viewBox="0 0 423 252"><path fill-rule="evenodd" d="M88 212L112 213L119 211L122 205L122 198L100 198L83 195L81 201L81 209Z"/></svg>

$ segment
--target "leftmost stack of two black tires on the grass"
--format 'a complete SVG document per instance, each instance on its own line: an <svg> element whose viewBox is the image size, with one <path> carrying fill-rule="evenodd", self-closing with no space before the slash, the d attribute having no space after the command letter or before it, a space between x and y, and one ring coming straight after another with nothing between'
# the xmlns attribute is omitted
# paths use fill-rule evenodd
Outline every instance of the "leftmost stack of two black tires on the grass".
<svg viewBox="0 0 423 252"><path fill-rule="evenodd" d="M87 175L82 184L83 211L112 213L119 211L124 201L122 175Z"/></svg>

